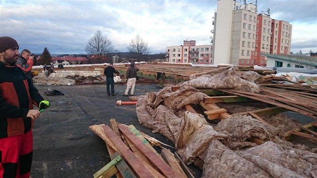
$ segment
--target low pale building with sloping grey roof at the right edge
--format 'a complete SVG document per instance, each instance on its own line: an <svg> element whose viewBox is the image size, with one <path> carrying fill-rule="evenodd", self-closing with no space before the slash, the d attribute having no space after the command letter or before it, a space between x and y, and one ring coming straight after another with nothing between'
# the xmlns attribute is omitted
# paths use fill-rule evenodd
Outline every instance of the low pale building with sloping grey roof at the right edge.
<svg viewBox="0 0 317 178"><path fill-rule="evenodd" d="M267 54L261 53L263 56L267 56L268 67L295 67L295 68L317 68L317 58L299 54Z"/></svg>

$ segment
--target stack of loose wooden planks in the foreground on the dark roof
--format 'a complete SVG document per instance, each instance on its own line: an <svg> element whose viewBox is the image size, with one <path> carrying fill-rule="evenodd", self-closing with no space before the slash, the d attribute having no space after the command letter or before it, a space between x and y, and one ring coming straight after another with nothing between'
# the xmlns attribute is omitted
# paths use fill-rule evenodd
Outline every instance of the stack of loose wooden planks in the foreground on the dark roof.
<svg viewBox="0 0 317 178"><path fill-rule="evenodd" d="M114 174L117 177L193 177L176 153L173 155L170 150L164 149L160 155L143 137L145 134L140 133L133 125L118 125L111 119L110 126L111 128L105 124L90 126L106 142L112 159L94 177L111 177ZM148 135L145 137L152 144L160 145L154 138Z"/></svg>

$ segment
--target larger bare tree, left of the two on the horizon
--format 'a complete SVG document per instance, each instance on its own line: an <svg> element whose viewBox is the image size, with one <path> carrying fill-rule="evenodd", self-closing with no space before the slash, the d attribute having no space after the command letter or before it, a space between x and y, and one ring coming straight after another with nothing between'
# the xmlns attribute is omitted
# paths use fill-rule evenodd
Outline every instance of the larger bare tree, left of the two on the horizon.
<svg viewBox="0 0 317 178"><path fill-rule="evenodd" d="M108 53L114 51L114 47L112 42L106 36L103 36L100 30L98 30L95 33L95 36L88 41L85 51L88 54L93 55L97 59L98 63L101 63L106 60Z"/></svg>

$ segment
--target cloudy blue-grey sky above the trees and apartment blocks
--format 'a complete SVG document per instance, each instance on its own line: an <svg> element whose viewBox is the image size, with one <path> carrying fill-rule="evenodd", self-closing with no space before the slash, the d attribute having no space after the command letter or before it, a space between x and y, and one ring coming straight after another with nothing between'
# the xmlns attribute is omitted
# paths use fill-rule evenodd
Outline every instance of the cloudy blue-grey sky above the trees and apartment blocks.
<svg viewBox="0 0 317 178"><path fill-rule="evenodd" d="M258 12L268 8L271 18L293 26L292 52L317 52L316 0L258 0ZM183 40L210 44L215 9L216 0L0 0L0 36L15 38L21 50L32 53L47 47L51 54L86 54L97 30L120 52L127 52L139 34L153 53L160 53Z"/></svg>

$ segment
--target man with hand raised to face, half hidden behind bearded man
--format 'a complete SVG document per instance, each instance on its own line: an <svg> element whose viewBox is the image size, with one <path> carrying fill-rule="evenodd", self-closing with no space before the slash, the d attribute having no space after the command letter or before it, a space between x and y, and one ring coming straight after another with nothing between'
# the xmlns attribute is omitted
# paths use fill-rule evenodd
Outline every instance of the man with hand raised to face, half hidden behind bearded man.
<svg viewBox="0 0 317 178"><path fill-rule="evenodd" d="M34 58L31 56L31 51L24 49L16 64L24 71L25 75L33 81L31 69L34 64Z"/></svg>

